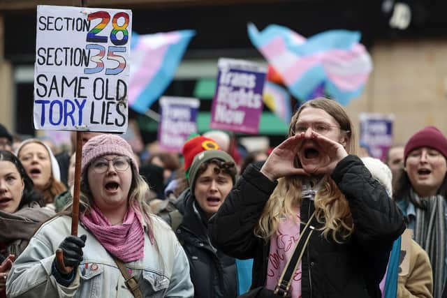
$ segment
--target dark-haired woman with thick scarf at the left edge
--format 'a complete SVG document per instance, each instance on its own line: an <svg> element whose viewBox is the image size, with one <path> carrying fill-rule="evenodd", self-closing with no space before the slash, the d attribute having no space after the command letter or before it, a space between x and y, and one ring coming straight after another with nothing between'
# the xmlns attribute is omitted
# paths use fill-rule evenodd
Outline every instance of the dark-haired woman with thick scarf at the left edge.
<svg viewBox="0 0 447 298"><path fill-rule="evenodd" d="M33 189L22 163L10 151L0 151L0 297L14 259L41 223L54 213L42 208L43 196Z"/></svg>

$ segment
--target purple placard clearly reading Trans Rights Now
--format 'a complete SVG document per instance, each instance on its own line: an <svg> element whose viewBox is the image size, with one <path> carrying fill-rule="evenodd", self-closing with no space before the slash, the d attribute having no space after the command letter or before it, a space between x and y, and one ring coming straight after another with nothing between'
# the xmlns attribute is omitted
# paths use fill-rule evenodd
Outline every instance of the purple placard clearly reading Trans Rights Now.
<svg viewBox="0 0 447 298"><path fill-rule="evenodd" d="M219 59L211 128L257 134L267 68L244 60Z"/></svg>

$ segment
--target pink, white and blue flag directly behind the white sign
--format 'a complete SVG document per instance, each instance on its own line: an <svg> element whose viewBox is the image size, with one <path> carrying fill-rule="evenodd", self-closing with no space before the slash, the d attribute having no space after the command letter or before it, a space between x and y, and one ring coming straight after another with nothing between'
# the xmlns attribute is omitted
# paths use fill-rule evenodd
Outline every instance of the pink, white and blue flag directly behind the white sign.
<svg viewBox="0 0 447 298"><path fill-rule="evenodd" d="M129 105L145 113L170 84L193 30L139 35L132 33Z"/></svg>

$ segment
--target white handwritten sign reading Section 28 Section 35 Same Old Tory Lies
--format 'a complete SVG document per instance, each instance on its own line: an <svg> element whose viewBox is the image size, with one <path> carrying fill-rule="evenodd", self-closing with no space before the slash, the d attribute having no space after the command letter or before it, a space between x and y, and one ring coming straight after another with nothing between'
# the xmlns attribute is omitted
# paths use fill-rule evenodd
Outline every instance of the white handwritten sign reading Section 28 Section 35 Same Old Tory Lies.
<svg viewBox="0 0 447 298"><path fill-rule="evenodd" d="M124 132L131 10L37 6L34 127Z"/></svg>

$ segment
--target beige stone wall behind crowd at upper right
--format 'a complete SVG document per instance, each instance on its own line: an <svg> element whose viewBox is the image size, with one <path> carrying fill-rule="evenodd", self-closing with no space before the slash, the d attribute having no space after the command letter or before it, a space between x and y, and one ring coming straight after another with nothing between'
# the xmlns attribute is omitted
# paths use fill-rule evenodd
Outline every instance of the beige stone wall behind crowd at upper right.
<svg viewBox="0 0 447 298"><path fill-rule="evenodd" d="M395 142L406 142L427 125L447 135L447 40L375 43L374 70L362 96L347 110L395 115Z"/></svg>

